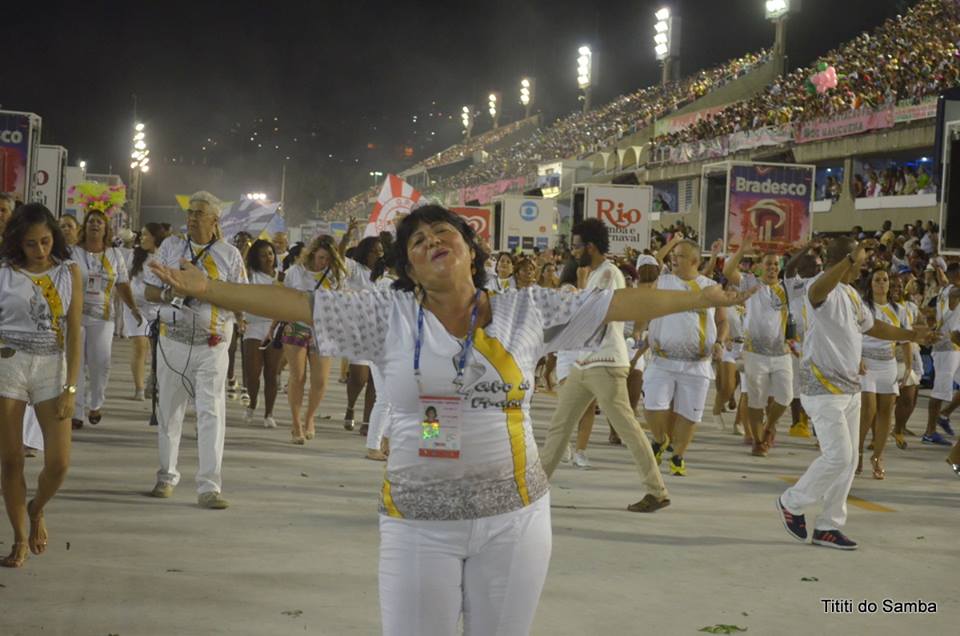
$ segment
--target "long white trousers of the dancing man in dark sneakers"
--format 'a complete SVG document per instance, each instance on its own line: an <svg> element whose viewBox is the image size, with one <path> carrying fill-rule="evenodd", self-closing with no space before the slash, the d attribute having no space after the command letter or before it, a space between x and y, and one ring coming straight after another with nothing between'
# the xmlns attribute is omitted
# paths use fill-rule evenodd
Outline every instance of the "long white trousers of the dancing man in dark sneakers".
<svg viewBox="0 0 960 636"><path fill-rule="evenodd" d="M847 521L847 495L857 468L860 440L860 394L801 395L803 410L817 431L820 456L781 497L793 514L823 500L815 530L839 530Z"/></svg>

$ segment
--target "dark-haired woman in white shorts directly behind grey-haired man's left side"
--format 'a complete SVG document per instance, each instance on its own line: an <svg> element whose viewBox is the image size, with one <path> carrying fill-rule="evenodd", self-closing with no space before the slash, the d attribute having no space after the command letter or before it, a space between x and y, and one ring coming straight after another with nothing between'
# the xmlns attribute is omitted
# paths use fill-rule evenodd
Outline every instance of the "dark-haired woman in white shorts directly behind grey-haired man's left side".
<svg viewBox="0 0 960 636"><path fill-rule="evenodd" d="M130 308L123 305L123 333L133 343L133 355L130 357L130 372L133 374L134 400L143 400L146 386L147 354L150 353L150 325L157 319L157 305L148 301L143 293L144 268L157 248L167 237L166 230L159 223L147 223L140 230L140 239L133 248L130 261L130 290L133 300L140 310L142 320L137 321Z"/></svg>

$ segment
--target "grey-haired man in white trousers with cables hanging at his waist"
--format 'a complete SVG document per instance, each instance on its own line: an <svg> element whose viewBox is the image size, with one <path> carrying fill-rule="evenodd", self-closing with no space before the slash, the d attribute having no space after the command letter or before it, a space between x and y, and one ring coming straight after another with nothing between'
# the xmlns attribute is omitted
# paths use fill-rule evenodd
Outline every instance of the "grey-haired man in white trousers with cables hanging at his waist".
<svg viewBox="0 0 960 636"><path fill-rule="evenodd" d="M187 261L216 280L247 282L243 258L237 248L216 237L220 201L209 192L190 197L187 234L171 236L157 251L156 260L167 267L182 267ZM233 333L233 313L196 299L177 298L152 271L146 274L150 302L162 303L159 310L160 337L157 342L160 470L150 493L166 498L180 481L177 455L187 402L197 410L197 447L200 466L197 491L200 506L223 509L220 496L220 467L226 434L227 351Z"/></svg>

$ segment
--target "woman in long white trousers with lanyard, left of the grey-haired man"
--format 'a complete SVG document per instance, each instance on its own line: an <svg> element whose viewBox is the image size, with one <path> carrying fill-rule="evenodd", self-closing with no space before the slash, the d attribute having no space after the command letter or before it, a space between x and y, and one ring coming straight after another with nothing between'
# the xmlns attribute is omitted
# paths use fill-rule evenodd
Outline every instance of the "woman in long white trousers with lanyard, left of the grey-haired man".
<svg viewBox="0 0 960 636"><path fill-rule="evenodd" d="M123 253L112 246L110 219L100 210L87 210L80 227L80 236L73 248L73 260L80 267L83 281L83 360L77 385L77 408L73 427L83 426L87 416L91 424L99 424L110 378L110 356L113 352L113 294L123 301L137 323L143 321L133 300L130 276ZM89 380L89 386L87 384ZM89 398L89 401L87 401Z"/></svg>

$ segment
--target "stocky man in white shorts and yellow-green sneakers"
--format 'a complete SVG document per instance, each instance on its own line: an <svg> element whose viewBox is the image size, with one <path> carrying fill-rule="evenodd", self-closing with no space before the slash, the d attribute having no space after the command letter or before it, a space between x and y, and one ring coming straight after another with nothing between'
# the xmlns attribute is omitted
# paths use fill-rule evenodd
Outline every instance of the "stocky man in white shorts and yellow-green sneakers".
<svg viewBox="0 0 960 636"><path fill-rule="evenodd" d="M683 239L667 247L673 252L673 273L661 274L657 289L700 291L716 285L700 273L699 245ZM643 407L657 462L663 449L673 444L670 472L674 475L687 474L684 454L693 439L694 426L703 418L703 405L714 377L710 359L720 359L721 343L726 338L727 318L722 307L685 311L650 322L650 363L643 375Z"/></svg>

